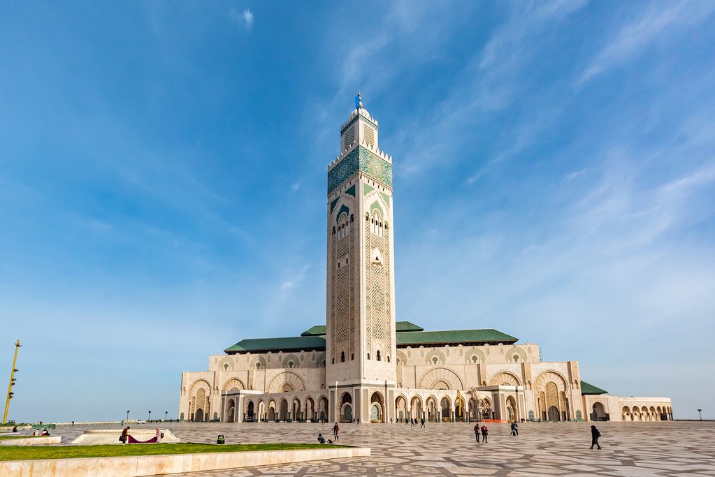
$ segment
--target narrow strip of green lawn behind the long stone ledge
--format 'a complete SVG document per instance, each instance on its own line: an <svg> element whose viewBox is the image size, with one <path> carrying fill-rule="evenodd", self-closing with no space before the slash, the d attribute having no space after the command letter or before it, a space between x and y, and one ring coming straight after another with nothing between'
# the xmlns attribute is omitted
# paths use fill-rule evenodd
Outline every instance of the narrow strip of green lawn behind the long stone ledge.
<svg viewBox="0 0 715 477"><path fill-rule="evenodd" d="M2 446L0 461L28 461L41 458L157 456L161 454L191 454L206 452L292 451L315 449L327 444L109 444L104 446Z"/></svg>

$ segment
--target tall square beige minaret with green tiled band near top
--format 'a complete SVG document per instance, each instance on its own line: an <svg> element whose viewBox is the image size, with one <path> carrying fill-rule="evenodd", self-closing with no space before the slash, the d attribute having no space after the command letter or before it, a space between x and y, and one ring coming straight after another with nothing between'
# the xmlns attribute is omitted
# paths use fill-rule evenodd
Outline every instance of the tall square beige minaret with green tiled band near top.
<svg viewBox="0 0 715 477"><path fill-rule="evenodd" d="M378 121L358 94L340 128L340 156L327 168L325 378L333 421L395 417L393 230L392 158L378 149Z"/></svg>

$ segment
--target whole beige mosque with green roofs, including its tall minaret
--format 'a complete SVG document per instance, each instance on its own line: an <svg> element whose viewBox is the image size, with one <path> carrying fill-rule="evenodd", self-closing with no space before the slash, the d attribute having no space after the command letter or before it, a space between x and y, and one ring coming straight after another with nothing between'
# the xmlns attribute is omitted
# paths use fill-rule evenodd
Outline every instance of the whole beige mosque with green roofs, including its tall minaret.
<svg viewBox="0 0 715 477"><path fill-rule="evenodd" d="M184 371L190 421L666 421L670 398L611 396L578 361L494 329L425 331L395 315L393 159L363 108L327 167L325 325L249 338Z"/></svg>

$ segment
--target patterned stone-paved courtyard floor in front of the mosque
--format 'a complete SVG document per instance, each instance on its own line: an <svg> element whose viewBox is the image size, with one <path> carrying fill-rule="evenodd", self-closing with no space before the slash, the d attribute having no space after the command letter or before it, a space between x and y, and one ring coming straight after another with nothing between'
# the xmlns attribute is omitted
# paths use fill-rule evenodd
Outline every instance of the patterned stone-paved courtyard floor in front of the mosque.
<svg viewBox="0 0 715 477"><path fill-rule="evenodd" d="M167 423L183 442L316 442L329 424ZM489 425L488 443L475 443L473 425L428 423L341 424L340 443L372 448L368 458L172 474L181 477L248 476L715 476L715 422L597 423L601 451L591 446L591 423L523 423L519 436L508 424ZM132 428L155 428L139 424ZM87 428L61 426L54 435L69 443Z"/></svg>

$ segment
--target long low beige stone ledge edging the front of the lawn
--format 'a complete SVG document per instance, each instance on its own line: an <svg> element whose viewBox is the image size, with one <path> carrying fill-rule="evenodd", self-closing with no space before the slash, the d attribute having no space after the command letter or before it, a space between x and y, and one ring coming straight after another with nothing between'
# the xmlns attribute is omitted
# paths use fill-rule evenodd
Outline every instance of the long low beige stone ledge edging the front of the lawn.
<svg viewBox="0 0 715 477"><path fill-rule="evenodd" d="M369 456L370 448L367 447L329 448L326 446L326 448L293 451L212 452L162 456L0 461L0 476L139 477Z"/></svg>

